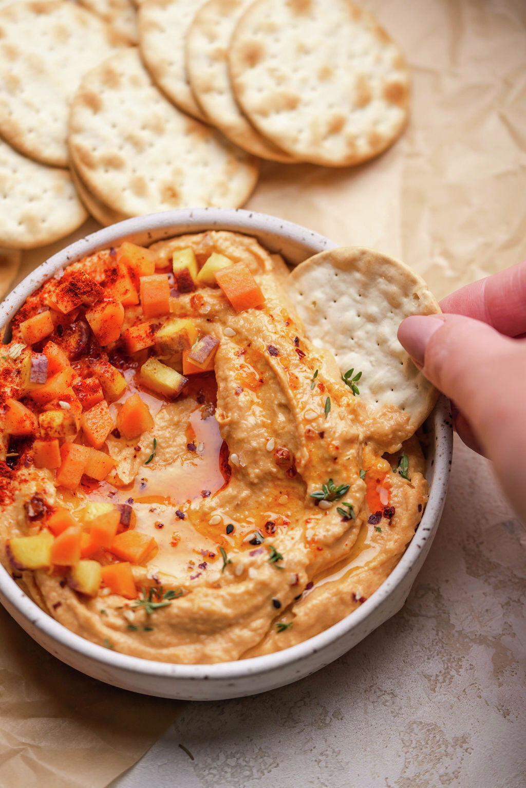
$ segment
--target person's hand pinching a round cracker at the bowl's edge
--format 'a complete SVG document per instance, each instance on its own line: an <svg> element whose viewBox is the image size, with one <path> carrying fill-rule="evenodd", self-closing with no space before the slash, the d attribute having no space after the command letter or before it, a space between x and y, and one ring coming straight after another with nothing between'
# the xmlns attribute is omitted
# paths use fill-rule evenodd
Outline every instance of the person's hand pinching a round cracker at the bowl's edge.
<svg viewBox="0 0 526 788"><path fill-rule="evenodd" d="M406 318L398 340L452 400L457 433L483 453L526 517L526 262L468 284L445 314Z"/></svg>

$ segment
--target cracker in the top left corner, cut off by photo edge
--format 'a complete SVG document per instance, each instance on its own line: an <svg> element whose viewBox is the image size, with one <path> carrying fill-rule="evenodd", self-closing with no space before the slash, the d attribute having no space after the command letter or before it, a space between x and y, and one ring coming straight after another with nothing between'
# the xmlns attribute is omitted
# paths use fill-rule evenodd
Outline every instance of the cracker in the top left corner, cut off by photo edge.
<svg viewBox="0 0 526 788"><path fill-rule="evenodd" d="M0 9L0 134L21 153L68 165L69 103L83 73L113 51L107 25L72 2Z"/></svg>

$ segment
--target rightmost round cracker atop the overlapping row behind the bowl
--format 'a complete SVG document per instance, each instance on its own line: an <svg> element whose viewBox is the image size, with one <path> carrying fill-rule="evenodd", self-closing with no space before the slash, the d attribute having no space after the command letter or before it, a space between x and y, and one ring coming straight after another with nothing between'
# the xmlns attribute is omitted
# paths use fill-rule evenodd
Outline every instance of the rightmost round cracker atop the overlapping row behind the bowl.
<svg viewBox="0 0 526 788"><path fill-rule="evenodd" d="M258 130L309 162L363 162L406 125L402 53L350 0L256 0L232 37L230 76Z"/></svg>

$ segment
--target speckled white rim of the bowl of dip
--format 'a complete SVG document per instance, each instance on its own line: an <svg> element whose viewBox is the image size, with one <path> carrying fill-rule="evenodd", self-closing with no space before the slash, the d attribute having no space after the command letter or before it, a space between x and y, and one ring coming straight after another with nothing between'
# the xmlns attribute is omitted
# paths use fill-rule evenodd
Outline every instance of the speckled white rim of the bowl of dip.
<svg viewBox="0 0 526 788"><path fill-rule="evenodd" d="M16 314L20 305L40 284L49 279L62 267L69 263L91 254L101 248L111 246L113 242L120 241L125 236L132 237L149 230L160 228L170 229L170 237L177 234L175 225L182 225L182 232L200 232L199 229L228 229L235 232L246 232L248 235L273 233L276 238L292 238L294 243L315 243L323 248L335 247L336 244L324 238L319 233L313 232L291 221L285 221L267 214L258 214L254 211L225 208L202 208L165 211L161 214L149 214L121 221L117 225L103 228L85 238L71 243L51 258L43 262L32 271L24 281L20 282L13 292L0 304L0 325L6 325ZM188 228L194 229L188 229ZM278 243L279 245L279 243ZM312 254L310 252L309 254ZM435 463L433 467L433 481L429 494L428 504L424 516L420 521L409 547L398 562L389 577L380 585L380 588L344 619L330 626L320 634L310 637L288 649L265 654L264 656L250 657L247 660L234 660L221 663L180 664L143 660L140 657L128 656L120 652L106 649L68 630L56 619L39 608L30 597L17 585L9 572L0 566L0 593L13 605L17 611L28 619L33 626L63 645L72 652L115 667L120 671L130 674L150 675L160 678L178 678L187 681L203 681L205 679L235 680L254 675L262 675L275 671L296 660L302 660L319 652L333 642L338 641L349 630L365 622L374 611L383 604L393 592L398 583L402 582L409 573L413 564L417 562L420 552L428 541L432 541L439 524L446 496L447 483L450 474L451 456L453 451L453 433L450 424L449 403L441 397L435 410L429 417L434 421L435 427ZM329 660L331 661L331 660Z"/></svg>

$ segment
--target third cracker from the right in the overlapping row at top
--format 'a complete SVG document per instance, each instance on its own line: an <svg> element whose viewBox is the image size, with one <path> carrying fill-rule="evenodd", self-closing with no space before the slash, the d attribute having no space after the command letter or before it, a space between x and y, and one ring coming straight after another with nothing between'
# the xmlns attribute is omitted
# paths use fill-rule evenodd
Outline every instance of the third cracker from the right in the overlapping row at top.
<svg viewBox="0 0 526 788"><path fill-rule="evenodd" d="M185 46L200 0L141 0L139 46L157 84L181 110L204 121L188 81Z"/></svg>

